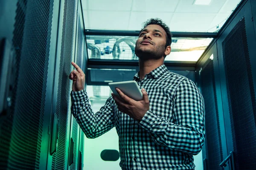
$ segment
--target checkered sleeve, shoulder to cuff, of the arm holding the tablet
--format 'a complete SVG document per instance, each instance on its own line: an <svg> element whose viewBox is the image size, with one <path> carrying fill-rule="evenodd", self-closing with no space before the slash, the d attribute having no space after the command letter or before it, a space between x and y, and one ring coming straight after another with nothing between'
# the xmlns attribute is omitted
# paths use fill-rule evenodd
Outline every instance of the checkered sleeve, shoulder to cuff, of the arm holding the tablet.
<svg viewBox="0 0 256 170"><path fill-rule="evenodd" d="M172 104L172 122L148 110L139 124L151 133L155 143L196 155L203 147L205 130L204 99L194 82L184 79Z"/></svg>

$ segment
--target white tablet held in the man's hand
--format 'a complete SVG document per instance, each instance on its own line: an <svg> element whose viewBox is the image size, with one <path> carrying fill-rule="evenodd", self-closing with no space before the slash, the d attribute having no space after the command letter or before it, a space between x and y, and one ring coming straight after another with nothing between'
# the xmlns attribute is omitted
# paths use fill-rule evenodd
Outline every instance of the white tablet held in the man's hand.
<svg viewBox="0 0 256 170"><path fill-rule="evenodd" d="M116 91L116 88L119 88L126 96L140 101L143 99L142 92L137 84L136 81L126 81L126 82L110 82L108 83L109 87L111 88L113 94L119 96Z"/></svg>

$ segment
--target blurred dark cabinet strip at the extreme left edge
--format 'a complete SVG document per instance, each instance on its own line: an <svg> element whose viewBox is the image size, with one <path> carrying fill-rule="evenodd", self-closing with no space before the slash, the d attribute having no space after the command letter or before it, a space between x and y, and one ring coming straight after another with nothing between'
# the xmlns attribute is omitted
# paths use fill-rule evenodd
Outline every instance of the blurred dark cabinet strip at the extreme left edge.
<svg viewBox="0 0 256 170"><path fill-rule="evenodd" d="M15 64L13 64L15 63L15 49L12 43L16 8L17 0L14 0L13 3L9 3L7 0L0 1L0 169L8 167L14 116L15 91L9 89L9 86L12 87L14 84L14 79L7 79L7 77L14 77L17 74L14 69Z"/></svg>

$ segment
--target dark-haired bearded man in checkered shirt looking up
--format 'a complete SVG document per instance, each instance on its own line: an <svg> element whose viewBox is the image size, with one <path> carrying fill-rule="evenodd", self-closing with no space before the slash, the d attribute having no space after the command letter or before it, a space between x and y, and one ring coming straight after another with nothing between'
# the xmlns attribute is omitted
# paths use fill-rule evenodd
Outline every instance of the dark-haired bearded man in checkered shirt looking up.
<svg viewBox="0 0 256 170"><path fill-rule="evenodd" d="M123 170L193 170L193 155L204 144L204 99L186 77L163 65L170 54L172 34L160 19L150 19L140 31L135 54L140 71L134 76L143 100L135 101L119 89L93 114L84 90L84 73L73 80L72 114L87 138L96 138L116 127L120 167Z"/></svg>

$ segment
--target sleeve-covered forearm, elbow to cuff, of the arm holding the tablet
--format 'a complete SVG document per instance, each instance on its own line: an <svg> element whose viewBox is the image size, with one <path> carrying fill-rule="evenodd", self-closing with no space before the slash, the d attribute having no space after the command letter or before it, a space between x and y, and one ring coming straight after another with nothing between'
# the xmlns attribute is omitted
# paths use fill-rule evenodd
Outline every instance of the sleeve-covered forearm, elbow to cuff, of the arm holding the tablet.
<svg viewBox="0 0 256 170"><path fill-rule="evenodd" d="M204 144L204 126L175 125L148 111L139 125L151 133L155 143L196 155Z"/></svg>

